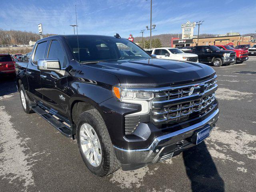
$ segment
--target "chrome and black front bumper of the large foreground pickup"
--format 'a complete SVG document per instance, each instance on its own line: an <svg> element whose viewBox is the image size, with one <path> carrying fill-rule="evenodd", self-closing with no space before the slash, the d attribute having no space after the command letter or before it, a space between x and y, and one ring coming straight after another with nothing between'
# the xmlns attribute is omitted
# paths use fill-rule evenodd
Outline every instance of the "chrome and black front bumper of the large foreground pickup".
<svg viewBox="0 0 256 192"><path fill-rule="evenodd" d="M180 154L183 150L195 146L191 137L198 129L210 126L212 130L218 120L218 108L206 119L184 129L156 137L148 148L123 149L114 146L116 157L120 161L123 170L134 170L146 164L153 164Z"/></svg>

